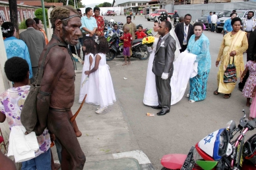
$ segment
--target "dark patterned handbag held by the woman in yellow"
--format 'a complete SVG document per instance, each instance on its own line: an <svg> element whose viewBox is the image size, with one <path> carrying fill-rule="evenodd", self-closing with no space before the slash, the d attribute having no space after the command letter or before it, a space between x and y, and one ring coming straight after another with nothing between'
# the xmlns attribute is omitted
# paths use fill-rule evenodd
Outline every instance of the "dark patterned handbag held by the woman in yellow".
<svg viewBox="0 0 256 170"><path fill-rule="evenodd" d="M235 57L233 56L232 64L230 64L230 60L228 62L228 67L226 68L226 71L224 72L223 76L224 83L234 83L238 81L238 77L236 77L236 66L234 64L234 58Z"/></svg>

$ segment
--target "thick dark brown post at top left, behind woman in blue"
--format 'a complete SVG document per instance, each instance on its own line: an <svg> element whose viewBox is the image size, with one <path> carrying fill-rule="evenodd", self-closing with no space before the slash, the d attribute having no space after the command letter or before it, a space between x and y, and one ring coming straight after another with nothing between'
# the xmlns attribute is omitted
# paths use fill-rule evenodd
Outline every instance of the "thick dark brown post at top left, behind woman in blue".
<svg viewBox="0 0 256 170"><path fill-rule="evenodd" d="M17 9L17 1L16 0L9 0L9 9L10 9L10 18L11 23L16 28L17 32L17 38L19 37L19 31L18 31L18 9Z"/></svg>

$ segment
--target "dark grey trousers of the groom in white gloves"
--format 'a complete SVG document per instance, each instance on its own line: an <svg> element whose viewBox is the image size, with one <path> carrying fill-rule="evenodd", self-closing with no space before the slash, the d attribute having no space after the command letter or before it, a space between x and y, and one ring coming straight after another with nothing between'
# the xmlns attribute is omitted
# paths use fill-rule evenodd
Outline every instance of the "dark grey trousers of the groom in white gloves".
<svg viewBox="0 0 256 170"><path fill-rule="evenodd" d="M170 74L170 73L169 73ZM170 110L171 105L171 76L168 79L162 79L156 75L156 91L158 95L158 104L162 106L162 110Z"/></svg>

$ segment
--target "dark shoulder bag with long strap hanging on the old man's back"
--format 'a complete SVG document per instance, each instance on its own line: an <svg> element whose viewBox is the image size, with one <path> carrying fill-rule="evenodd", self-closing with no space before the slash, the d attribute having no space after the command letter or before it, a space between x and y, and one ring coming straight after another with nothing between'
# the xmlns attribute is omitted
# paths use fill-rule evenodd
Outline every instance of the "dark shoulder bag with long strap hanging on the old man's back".
<svg viewBox="0 0 256 170"><path fill-rule="evenodd" d="M46 62L46 55L49 53L51 47L55 45L67 47L65 43L54 43L53 45L48 47L46 53L44 54L44 58L42 60L40 69L36 73L36 81L30 85L30 92L28 93L28 96L21 110L20 121L22 125L26 128L27 133L31 133L32 131L34 131L36 123L38 123L38 116L36 112L36 99L40 91L40 85L44 74L44 64Z"/></svg>

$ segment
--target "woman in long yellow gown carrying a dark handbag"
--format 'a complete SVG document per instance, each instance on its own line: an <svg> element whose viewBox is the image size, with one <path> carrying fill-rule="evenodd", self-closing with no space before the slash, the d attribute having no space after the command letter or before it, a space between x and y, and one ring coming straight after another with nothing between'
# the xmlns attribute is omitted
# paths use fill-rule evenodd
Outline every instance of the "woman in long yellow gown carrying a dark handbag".
<svg viewBox="0 0 256 170"><path fill-rule="evenodd" d="M216 60L216 67L218 67L221 61L220 68L217 75L218 89L214 91L214 95L219 93L224 93L223 98L230 98L232 91L236 86L234 83L224 83L224 72L230 62L232 64L234 58L234 64L236 66L236 76L240 77L244 70L243 64L243 52L248 48L248 41L246 33L240 30L241 19L236 17L231 21L232 32L228 32L224 35L222 44L220 45L220 51L218 53L218 58Z"/></svg>

